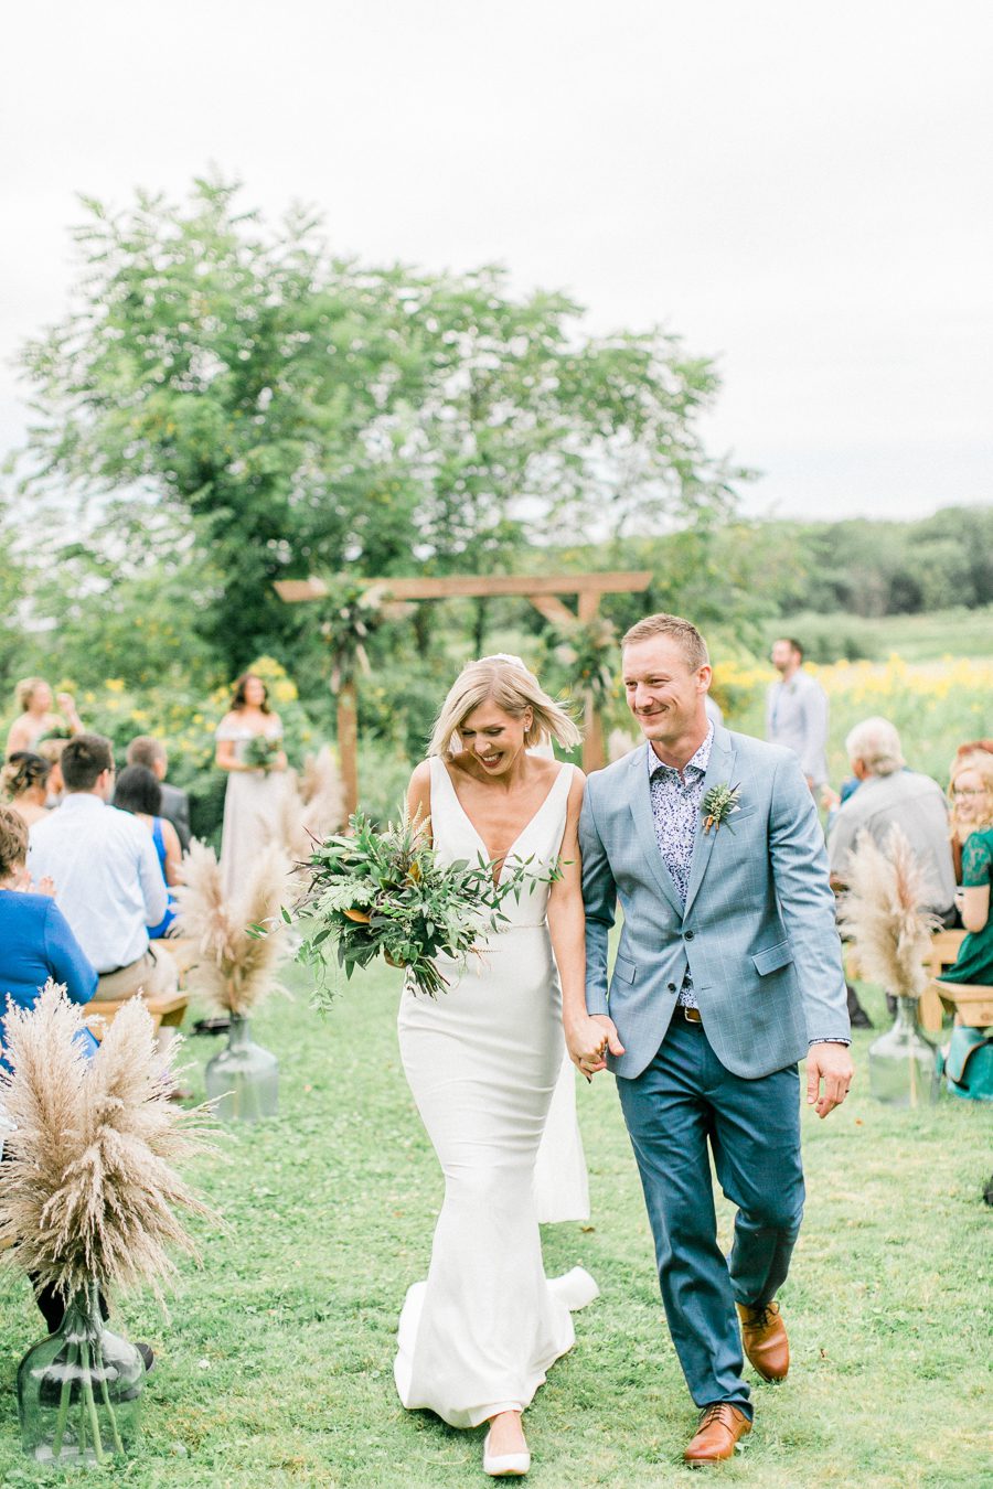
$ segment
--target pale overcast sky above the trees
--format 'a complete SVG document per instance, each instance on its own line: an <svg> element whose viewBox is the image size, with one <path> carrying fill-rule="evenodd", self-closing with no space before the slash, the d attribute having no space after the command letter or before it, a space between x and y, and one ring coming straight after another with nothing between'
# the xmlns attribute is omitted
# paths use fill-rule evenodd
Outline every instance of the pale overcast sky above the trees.
<svg viewBox="0 0 993 1489"><path fill-rule="evenodd" d="M993 500L989 0L55 0L4 16L0 450L77 192L319 205L716 356L750 511Z"/></svg>

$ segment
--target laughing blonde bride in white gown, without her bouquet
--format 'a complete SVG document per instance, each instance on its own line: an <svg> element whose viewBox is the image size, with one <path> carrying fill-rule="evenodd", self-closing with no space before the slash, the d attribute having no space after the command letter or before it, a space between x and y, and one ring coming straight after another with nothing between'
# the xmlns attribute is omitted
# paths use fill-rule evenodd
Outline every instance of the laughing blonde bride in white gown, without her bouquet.
<svg viewBox="0 0 993 1489"><path fill-rule="evenodd" d="M482 853L494 874L529 859L540 874L464 971L439 962L438 1001L403 992L399 1036L414 1100L445 1175L426 1282L400 1315L396 1385L405 1407L457 1428L488 1422L484 1471L524 1474L521 1413L575 1343L570 1309L597 1295L573 1267L545 1278L534 1169L563 1062L563 990L584 1002L578 822L584 777L531 753L579 740L523 664L472 663L442 704L430 758L414 771L411 817L430 819L444 861ZM561 978L561 984L560 984Z"/></svg>

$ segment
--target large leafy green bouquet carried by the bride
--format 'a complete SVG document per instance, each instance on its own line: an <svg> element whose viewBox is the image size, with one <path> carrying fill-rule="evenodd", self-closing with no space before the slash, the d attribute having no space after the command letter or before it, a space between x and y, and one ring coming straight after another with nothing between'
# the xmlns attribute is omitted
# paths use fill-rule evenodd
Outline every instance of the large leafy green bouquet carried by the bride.
<svg viewBox="0 0 993 1489"><path fill-rule="evenodd" d="M506 922L500 905L508 895L520 899L526 883L558 877L555 868L543 877L531 873L530 858L503 864L499 883L482 855L475 864L442 864L406 814L381 832L362 812L348 825L350 837L326 838L304 865L311 877L296 916L311 929L296 959L316 968L319 986L333 946L345 977L381 954L436 998L448 983L435 957L464 959Z"/></svg>

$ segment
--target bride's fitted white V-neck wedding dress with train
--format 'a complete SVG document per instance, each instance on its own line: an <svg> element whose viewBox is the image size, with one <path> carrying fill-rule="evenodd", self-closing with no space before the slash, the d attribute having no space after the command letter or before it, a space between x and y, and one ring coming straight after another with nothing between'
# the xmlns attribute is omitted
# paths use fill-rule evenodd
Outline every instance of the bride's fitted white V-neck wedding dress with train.
<svg viewBox="0 0 993 1489"><path fill-rule="evenodd" d="M475 862L485 846L448 770L433 758L430 773L435 847L445 862ZM560 767L508 858L534 855L539 873L558 855L570 782L572 767ZM448 992L430 999L408 986L400 1004L403 1069L445 1175L445 1200L427 1281L406 1294L393 1373L405 1407L436 1412L459 1428L523 1412L575 1343L570 1309L597 1295L582 1267L545 1278L537 1228L534 1175L552 1096L564 1161L549 1164L560 1194L542 1205L543 1218L566 1218L557 1206L575 1218L585 1196L575 1096L561 1074L548 889L533 884L520 904L508 896L509 923L464 972L439 960Z"/></svg>

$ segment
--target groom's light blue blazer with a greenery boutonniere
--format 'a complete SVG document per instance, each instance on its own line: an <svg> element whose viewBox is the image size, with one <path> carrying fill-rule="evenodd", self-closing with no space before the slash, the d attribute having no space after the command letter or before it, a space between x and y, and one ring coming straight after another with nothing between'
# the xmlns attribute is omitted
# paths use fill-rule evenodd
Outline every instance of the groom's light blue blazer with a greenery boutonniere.
<svg viewBox="0 0 993 1489"><path fill-rule="evenodd" d="M740 788L718 831L697 825L685 908L655 838L642 744L587 782L579 843L587 907L587 1008L613 1018L634 1078L652 1062L689 968L721 1063L755 1080L811 1039L847 1039L841 944L817 812L789 750L715 730L704 792ZM624 928L607 990L607 934Z"/></svg>

